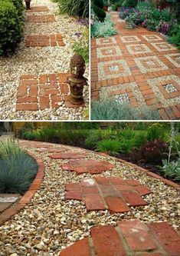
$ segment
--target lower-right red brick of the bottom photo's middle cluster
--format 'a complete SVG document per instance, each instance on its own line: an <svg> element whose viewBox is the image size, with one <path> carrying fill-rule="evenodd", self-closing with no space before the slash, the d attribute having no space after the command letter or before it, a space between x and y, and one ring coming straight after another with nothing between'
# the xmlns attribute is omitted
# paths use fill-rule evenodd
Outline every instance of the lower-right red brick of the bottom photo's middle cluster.
<svg viewBox="0 0 180 256"><path fill-rule="evenodd" d="M138 193L133 191L122 191L123 198L130 206L141 206L148 204Z"/></svg>

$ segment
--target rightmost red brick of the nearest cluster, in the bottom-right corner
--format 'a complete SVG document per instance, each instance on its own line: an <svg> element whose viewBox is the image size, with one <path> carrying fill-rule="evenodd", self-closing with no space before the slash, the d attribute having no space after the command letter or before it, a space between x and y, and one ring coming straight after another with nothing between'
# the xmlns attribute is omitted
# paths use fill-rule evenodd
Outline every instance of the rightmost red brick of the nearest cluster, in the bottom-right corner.
<svg viewBox="0 0 180 256"><path fill-rule="evenodd" d="M169 255L180 255L180 236L167 222L152 223L149 228Z"/></svg>

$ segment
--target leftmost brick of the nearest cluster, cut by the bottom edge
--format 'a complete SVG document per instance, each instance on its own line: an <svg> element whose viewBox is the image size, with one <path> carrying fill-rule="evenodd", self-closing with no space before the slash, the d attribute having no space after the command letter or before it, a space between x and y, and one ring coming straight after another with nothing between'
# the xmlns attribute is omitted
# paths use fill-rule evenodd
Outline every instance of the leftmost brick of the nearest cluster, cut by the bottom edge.
<svg viewBox="0 0 180 256"><path fill-rule="evenodd" d="M61 251L60 256L91 256L88 238L83 238Z"/></svg>

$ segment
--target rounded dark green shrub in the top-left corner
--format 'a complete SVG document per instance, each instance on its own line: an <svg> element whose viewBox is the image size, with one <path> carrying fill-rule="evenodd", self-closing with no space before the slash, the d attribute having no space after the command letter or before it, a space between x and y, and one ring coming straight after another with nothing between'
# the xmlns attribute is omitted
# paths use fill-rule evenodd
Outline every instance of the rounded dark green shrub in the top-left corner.
<svg viewBox="0 0 180 256"><path fill-rule="evenodd" d="M21 41L21 15L8 0L0 0L0 55L14 51Z"/></svg>

